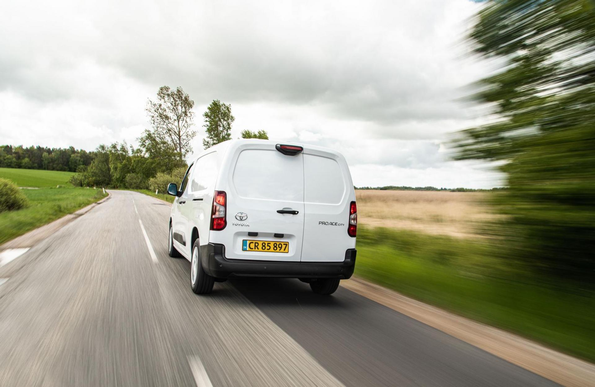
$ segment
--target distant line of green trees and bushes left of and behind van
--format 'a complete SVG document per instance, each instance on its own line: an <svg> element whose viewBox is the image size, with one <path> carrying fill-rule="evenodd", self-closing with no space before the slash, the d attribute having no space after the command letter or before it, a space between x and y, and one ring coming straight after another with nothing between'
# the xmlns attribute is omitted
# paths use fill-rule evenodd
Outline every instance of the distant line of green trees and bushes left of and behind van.
<svg viewBox="0 0 595 387"><path fill-rule="evenodd" d="M164 189L179 182L187 168L185 158L192 152L194 101L181 87L159 87L155 100L149 99L146 112L151 129L137 139L135 148L126 143L101 144L94 151L42 146L0 147L0 167L77 172L71 183L77 187ZM203 146L231 140L235 118L231 105L216 99L203 114L206 138ZM243 130L243 139L268 139L264 130ZM165 183L167 182L167 183Z"/></svg>

